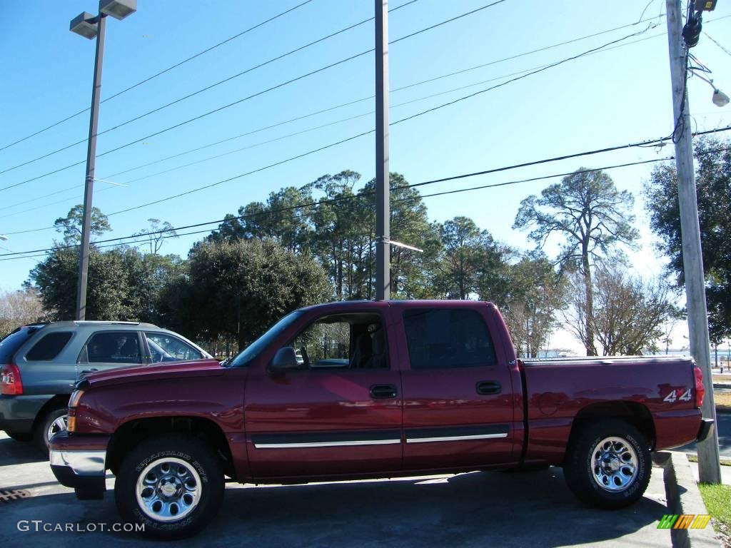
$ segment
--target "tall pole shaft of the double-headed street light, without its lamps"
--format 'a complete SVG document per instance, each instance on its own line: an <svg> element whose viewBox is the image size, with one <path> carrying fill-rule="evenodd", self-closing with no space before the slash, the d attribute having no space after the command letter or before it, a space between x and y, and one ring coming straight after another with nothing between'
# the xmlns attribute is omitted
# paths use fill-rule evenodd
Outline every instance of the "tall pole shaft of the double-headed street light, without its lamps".
<svg viewBox="0 0 731 548"><path fill-rule="evenodd" d="M94 164L96 164L96 126L99 123L99 95L102 91L102 61L104 61L104 35L106 16L99 12L96 21L96 58L94 59L94 87L91 89L91 117L89 140L86 149L86 184L84 186L84 216L81 224L81 248L79 250L79 280L76 294L76 319L86 319L86 283L89 267L89 236L91 235L91 208L94 196Z"/></svg>

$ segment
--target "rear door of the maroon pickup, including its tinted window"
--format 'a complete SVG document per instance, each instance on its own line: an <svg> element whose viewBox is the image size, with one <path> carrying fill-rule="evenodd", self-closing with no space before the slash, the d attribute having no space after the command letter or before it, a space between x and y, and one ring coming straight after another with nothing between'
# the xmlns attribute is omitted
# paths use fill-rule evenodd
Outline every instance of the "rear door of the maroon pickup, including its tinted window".
<svg viewBox="0 0 731 548"><path fill-rule="evenodd" d="M514 388L488 304L410 302L401 311L404 469L471 467L518 460ZM496 341L497 342L497 341Z"/></svg>

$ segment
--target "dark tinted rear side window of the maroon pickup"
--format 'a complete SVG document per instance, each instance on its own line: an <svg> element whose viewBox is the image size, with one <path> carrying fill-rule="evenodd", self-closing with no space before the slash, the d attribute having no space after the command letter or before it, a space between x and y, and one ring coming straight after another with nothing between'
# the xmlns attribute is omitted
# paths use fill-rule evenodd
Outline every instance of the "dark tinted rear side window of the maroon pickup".
<svg viewBox="0 0 731 548"><path fill-rule="evenodd" d="M496 363L488 327L476 311L417 308L404 312L412 369L474 368Z"/></svg>

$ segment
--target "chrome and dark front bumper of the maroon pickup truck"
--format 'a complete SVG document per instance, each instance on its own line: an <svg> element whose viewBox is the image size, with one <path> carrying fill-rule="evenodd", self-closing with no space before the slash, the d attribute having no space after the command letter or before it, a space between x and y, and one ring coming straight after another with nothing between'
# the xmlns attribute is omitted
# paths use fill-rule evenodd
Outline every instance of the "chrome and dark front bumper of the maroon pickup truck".
<svg viewBox="0 0 731 548"><path fill-rule="evenodd" d="M58 433L50 444L50 469L58 482L73 487L77 498L101 498L107 489L107 436Z"/></svg>

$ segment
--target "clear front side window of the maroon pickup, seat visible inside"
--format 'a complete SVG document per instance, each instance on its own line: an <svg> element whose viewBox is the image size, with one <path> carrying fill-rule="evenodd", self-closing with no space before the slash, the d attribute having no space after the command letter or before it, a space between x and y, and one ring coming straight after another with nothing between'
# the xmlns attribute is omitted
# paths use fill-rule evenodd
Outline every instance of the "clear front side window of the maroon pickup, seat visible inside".
<svg viewBox="0 0 731 548"><path fill-rule="evenodd" d="M317 319L290 343L303 368L387 368L386 339L378 314L338 314Z"/></svg>

